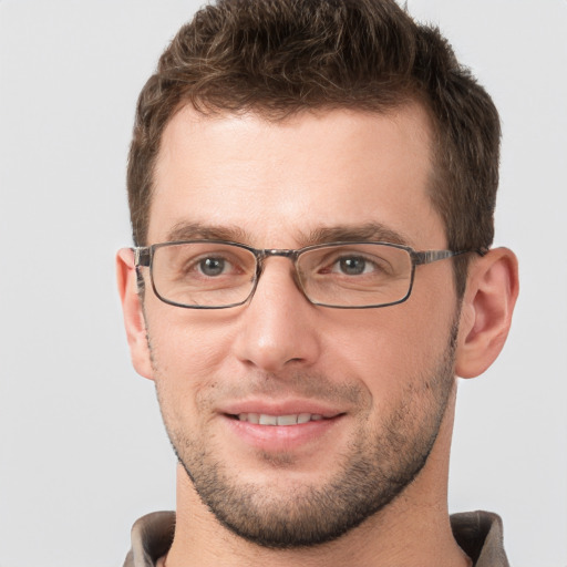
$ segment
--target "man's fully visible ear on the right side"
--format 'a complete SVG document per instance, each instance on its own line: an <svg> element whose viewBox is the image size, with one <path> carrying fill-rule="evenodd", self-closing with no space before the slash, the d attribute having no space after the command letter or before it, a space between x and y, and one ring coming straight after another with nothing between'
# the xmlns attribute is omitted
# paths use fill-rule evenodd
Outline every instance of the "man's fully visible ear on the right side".
<svg viewBox="0 0 567 567"><path fill-rule="evenodd" d="M518 297L518 261L512 250L495 248L473 261L463 297L456 374L482 374L502 351Z"/></svg>

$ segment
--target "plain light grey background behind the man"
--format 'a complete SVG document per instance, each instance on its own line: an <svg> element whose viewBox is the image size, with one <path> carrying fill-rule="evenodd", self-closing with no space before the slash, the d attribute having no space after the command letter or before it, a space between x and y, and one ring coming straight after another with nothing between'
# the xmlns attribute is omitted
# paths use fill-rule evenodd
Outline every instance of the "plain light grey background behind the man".
<svg viewBox="0 0 567 567"><path fill-rule="evenodd" d="M131 368L114 284L130 244L134 104L199 1L0 3L0 567L121 565L174 507L175 460ZM450 505L504 517L515 567L567 565L567 2L410 0L504 126L496 244L522 292L502 357L463 381Z"/></svg>

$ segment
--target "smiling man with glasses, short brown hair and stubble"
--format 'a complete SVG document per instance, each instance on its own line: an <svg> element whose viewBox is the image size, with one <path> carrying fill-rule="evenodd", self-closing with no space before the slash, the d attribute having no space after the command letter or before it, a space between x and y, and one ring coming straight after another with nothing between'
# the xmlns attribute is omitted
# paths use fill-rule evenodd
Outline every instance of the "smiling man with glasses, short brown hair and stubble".
<svg viewBox="0 0 567 567"><path fill-rule="evenodd" d="M177 511L127 566L506 566L449 517L456 377L518 291L489 249L499 125L440 33L383 0L220 1L138 101L135 369L178 456Z"/></svg>

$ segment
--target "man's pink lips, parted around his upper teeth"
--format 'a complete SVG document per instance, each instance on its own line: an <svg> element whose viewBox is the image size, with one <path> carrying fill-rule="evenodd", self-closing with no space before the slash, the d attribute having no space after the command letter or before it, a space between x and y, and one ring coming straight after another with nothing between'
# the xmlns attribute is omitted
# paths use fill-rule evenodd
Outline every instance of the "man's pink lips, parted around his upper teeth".
<svg viewBox="0 0 567 567"><path fill-rule="evenodd" d="M238 415L243 413L278 416L310 413L321 415L322 419L295 425L260 425L239 421ZM238 444L268 453L289 453L321 442L347 415L344 411L307 400L236 402L224 406L219 414Z"/></svg>

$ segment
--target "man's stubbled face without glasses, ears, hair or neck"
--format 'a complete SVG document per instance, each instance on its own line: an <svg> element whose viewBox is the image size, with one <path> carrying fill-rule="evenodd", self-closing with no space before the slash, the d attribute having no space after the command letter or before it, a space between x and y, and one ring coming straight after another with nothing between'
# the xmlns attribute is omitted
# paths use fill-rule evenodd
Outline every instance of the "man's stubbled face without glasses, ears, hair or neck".
<svg viewBox="0 0 567 567"><path fill-rule="evenodd" d="M164 133L148 244L443 249L429 143L416 106L278 123L183 110ZM450 261L416 268L410 299L380 309L313 306L292 270L269 258L251 300L230 309L168 306L151 286L144 298L150 374L179 462L220 523L272 547L333 539L406 491L454 383Z"/></svg>

